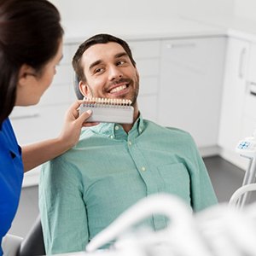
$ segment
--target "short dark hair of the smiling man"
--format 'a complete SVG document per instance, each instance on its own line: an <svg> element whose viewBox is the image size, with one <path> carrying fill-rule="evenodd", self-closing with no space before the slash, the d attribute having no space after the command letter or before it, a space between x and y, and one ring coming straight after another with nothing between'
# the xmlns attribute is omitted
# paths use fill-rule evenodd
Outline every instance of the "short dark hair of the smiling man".
<svg viewBox="0 0 256 256"><path fill-rule="evenodd" d="M86 41L84 41L83 44L80 44L79 49L77 49L75 55L73 56L72 64L73 64L73 69L76 73L78 81L86 80L86 78L84 77L84 70L81 65L81 59L82 59L82 55L84 54L84 51L90 48L90 46L94 44L108 44L110 42L120 44L125 49L125 52L129 56L132 65L136 67L136 62L132 57L131 49L124 40L122 40L121 38L116 38L109 34L97 34L87 39Z"/></svg>

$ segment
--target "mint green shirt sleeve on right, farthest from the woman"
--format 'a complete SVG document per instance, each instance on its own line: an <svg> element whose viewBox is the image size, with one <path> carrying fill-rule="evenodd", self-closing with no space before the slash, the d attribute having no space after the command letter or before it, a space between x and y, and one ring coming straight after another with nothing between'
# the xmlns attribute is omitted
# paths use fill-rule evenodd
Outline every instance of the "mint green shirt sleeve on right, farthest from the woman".
<svg viewBox="0 0 256 256"><path fill-rule="evenodd" d="M211 179L207 172L201 154L195 145L194 139L189 135L190 152L188 168L191 179L191 207L194 212L199 212L207 207L218 203L215 191L212 187Z"/></svg>

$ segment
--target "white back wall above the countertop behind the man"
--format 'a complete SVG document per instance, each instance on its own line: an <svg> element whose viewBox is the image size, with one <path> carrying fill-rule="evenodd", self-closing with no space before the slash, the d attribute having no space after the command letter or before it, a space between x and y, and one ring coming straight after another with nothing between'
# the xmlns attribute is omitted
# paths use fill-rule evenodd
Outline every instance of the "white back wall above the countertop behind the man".
<svg viewBox="0 0 256 256"><path fill-rule="evenodd" d="M62 20L122 20L170 15L230 15L236 0L50 0ZM244 1L244 0L241 0ZM253 0L251 0L253 1Z"/></svg>

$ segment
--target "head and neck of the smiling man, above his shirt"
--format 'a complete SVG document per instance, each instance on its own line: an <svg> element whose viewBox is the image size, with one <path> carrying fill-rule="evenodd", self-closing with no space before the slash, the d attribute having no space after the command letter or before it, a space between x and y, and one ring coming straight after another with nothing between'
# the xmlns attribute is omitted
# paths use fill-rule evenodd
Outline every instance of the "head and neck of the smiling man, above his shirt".
<svg viewBox="0 0 256 256"><path fill-rule="evenodd" d="M114 41L108 42L110 38ZM115 41L115 38L110 35L105 37L101 35L90 38L80 45L73 58L73 67L79 76L79 90L83 96L89 98L131 100L136 120L139 90L136 62L132 58L128 44L125 41L120 41L121 44ZM132 125L122 126L127 132L132 127Z"/></svg>

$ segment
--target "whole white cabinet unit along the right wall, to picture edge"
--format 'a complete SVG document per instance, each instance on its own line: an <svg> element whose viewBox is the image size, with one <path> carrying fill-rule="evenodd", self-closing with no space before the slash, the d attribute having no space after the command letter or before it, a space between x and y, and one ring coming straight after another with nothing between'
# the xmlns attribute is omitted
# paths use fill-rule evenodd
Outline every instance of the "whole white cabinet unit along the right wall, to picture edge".
<svg viewBox="0 0 256 256"><path fill-rule="evenodd" d="M256 130L256 44L229 38L218 144L221 156L247 169L248 160L236 153L236 144Z"/></svg>

